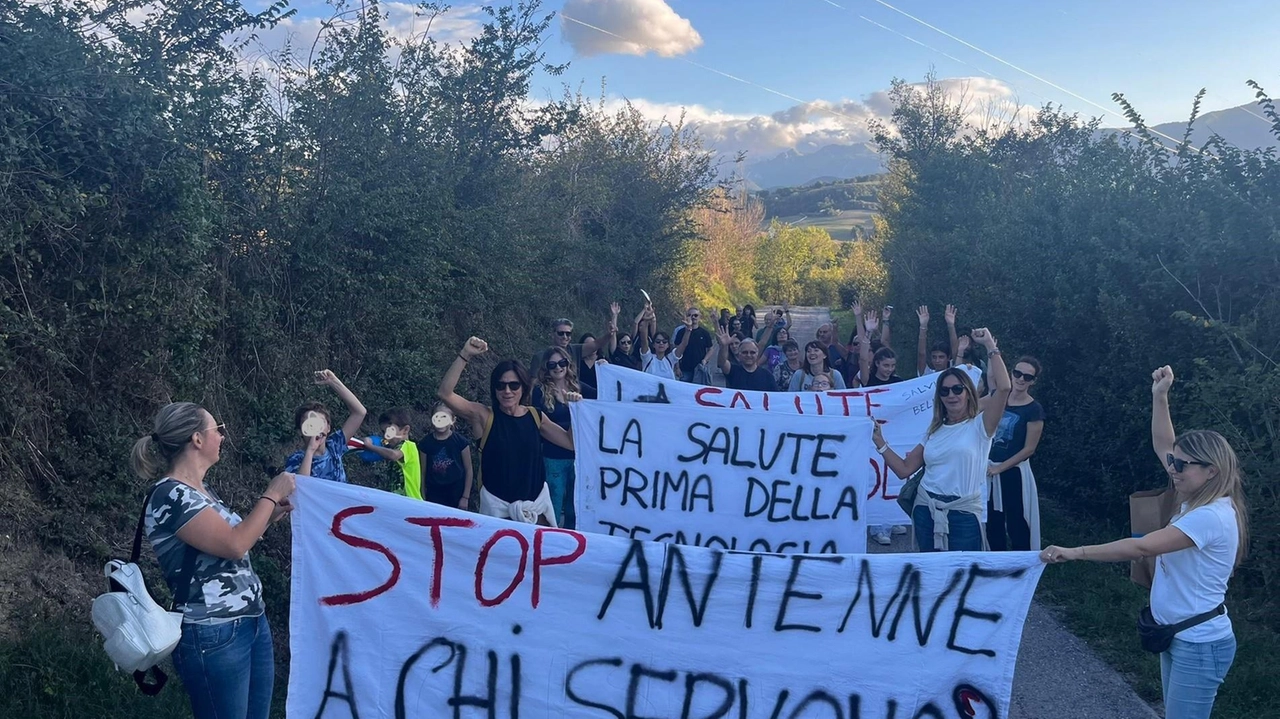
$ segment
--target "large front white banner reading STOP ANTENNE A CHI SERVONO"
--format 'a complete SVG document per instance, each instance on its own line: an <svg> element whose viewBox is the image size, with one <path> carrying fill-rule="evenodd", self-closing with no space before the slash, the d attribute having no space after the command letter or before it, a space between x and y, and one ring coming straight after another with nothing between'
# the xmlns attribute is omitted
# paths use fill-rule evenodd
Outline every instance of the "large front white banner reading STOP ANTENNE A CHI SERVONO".
<svg viewBox="0 0 1280 719"><path fill-rule="evenodd" d="M1034 553L742 554L300 477L291 719L1009 715Z"/></svg>

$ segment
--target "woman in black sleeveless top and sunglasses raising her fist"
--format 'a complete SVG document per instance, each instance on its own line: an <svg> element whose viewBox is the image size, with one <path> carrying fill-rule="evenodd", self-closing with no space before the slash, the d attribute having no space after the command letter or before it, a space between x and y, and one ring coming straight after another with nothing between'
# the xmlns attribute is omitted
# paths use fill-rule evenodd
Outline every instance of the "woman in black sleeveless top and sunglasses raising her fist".
<svg viewBox="0 0 1280 719"><path fill-rule="evenodd" d="M529 372L518 360L503 360L489 374L492 408L457 394L462 371L488 351L483 339L470 338L436 389L449 409L471 425L472 436L480 438L480 513L554 527L541 440L572 452L573 435L526 406Z"/></svg>

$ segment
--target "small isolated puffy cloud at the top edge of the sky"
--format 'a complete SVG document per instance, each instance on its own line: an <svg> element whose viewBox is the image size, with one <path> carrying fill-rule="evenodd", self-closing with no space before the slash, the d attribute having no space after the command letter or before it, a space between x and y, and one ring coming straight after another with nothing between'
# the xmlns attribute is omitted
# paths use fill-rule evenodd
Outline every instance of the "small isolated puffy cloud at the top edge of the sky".
<svg viewBox="0 0 1280 719"><path fill-rule="evenodd" d="M573 20L608 31L605 35ZM692 23L664 0L566 0L561 33L579 55L684 55L703 43Z"/></svg>

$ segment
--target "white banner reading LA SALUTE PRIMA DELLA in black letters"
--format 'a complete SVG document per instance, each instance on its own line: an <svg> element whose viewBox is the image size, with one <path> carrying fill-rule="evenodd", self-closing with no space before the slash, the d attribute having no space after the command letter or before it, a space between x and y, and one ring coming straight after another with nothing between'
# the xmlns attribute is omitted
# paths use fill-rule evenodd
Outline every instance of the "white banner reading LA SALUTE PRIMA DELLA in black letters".
<svg viewBox="0 0 1280 719"><path fill-rule="evenodd" d="M739 551L867 551L867 417L570 408L580 530Z"/></svg>

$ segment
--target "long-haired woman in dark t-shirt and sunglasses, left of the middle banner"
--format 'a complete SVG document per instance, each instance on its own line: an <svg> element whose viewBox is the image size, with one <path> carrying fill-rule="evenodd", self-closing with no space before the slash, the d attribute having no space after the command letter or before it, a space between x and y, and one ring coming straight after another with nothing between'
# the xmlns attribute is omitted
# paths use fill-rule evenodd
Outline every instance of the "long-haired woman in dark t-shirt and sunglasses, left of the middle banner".
<svg viewBox="0 0 1280 719"><path fill-rule="evenodd" d="M581 399L582 395L595 397L595 388L577 381L570 353L558 347L548 349L547 361L538 368L538 377L534 381L532 407L540 409L545 420L572 431L573 415L568 411L568 403ZM543 466L559 526L572 530L576 523L573 450L543 438Z"/></svg>

